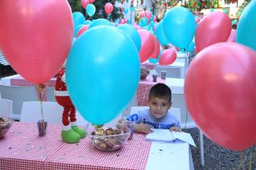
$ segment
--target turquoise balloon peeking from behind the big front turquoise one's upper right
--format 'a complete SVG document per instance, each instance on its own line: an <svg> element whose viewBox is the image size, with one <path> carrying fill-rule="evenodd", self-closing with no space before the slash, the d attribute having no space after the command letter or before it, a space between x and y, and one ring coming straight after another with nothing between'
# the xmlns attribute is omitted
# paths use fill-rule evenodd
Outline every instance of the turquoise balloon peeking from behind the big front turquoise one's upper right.
<svg viewBox="0 0 256 170"><path fill-rule="evenodd" d="M125 34L128 34L129 37L132 38L132 41L134 42L137 50L140 50L141 47L141 38L139 36L139 33L137 30L135 30L134 27L132 27L131 25L128 24L123 24L121 26L118 27L120 30L123 30Z"/></svg>

